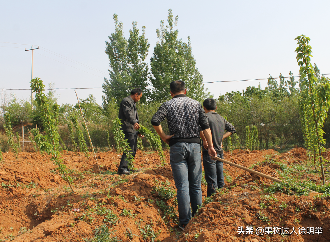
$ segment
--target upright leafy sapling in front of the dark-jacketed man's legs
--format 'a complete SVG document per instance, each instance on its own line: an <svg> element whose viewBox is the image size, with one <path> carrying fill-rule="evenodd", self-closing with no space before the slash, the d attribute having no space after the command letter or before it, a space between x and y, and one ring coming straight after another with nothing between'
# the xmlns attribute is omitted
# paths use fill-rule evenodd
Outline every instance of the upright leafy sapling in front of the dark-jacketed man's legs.
<svg viewBox="0 0 330 242"><path fill-rule="evenodd" d="M114 138L116 140L116 145L118 144L118 148L123 150L126 153L126 160L128 161L128 169L133 169L134 170L134 157L133 157L133 152L129 144L127 143L127 139L125 138L125 135L123 131L121 130L121 125L122 122L120 122L121 119L116 118L115 120L111 121L112 123L112 131L114 133ZM117 148L117 150L118 150Z"/></svg>

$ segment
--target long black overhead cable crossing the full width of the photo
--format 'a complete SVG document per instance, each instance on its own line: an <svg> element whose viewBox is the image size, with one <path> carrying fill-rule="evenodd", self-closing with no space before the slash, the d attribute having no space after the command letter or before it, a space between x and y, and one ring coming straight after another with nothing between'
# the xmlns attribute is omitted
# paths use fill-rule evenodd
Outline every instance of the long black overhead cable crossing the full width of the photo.
<svg viewBox="0 0 330 242"><path fill-rule="evenodd" d="M47 56L46 56L47 57ZM327 74L319 74L315 76L325 76L330 75ZM289 78L289 77L300 77L300 76L283 76L283 77L272 77L273 79L280 78ZM257 79L245 79L245 80L231 80L231 81L209 81L209 82L195 82L195 83L185 83L186 85L194 85L194 84L205 84L205 83L217 83L217 82L238 82L238 81L256 81L256 80L268 80L268 78L257 78ZM124 87L155 87L155 86L169 86L170 84L162 84L162 85L148 85L148 86L112 86L106 88L124 88ZM76 87L76 88L45 88L45 90L71 90L71 89L103 89L104 87ZM26 88L0 88L0 90L31 90Z"/></svg>

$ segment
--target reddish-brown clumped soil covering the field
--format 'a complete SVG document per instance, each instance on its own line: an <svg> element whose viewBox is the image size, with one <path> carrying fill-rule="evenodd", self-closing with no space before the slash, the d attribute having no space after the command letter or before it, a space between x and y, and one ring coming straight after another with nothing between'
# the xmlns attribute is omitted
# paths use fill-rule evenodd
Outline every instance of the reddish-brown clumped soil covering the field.
<svg viewBox="0 0 330 242"><path fill-rule="evenodd" d="M169 164L169 153L166 151ZM330 152L326 152L328 158ZM117 241L329 241L330 197L287 195L283 191L264 193L273 184L265 178L224 164L226 186L204 204L184 232L177 224L177 201L171 166L162 167L156 153L138 151L136 167L142 172L117 175L120 155L98 153L109 192L104 194L95 160L80 153L63 151L62 159L74 178L75 193L49 156L34 152L3 153L0 165L0 241L84 241L94 237L105 224L110 238ZM275 150L225 152L226 160L281 178L281 166L304 165L306 150L294 148L279 154ZM273 161L273 162L270 162ZM319 173L298 177L320 185ZM80 209L80 211L72 211ZM238 227L322 227L316 235L238 234ZM111 240L111 241L116 241Z"/></svg>

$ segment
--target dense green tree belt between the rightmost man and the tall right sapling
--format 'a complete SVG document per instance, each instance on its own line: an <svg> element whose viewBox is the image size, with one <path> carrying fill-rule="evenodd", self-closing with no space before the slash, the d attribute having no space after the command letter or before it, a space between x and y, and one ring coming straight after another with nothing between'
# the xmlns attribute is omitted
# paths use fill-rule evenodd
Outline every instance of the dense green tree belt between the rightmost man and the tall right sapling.
<svg viewBox="0 0 330 242"><path fill-rule="evenodd" d="M230 136L233 148L248 148L253 141L253 126L258 131L253 149L268 149L271 143L274 149L276 145L281 147L286 142L287 145L303 145L299 119L299 90L290 86L296 83L294 77L290 77L290 80L283 78L281 76L280 85L275 84L276 80L270 77L269 85L265 89L261 89L260 85L252 86L243 92L232 91L219 96L217 112L223 117L226 116L230 123L234 121L238 134ZM283 91L284 88L291 88L292 92ZM261 123L265 125L261 126ZM247 126L251 128L249 131ZM227 147L226 140L223 145Z"/></svg>

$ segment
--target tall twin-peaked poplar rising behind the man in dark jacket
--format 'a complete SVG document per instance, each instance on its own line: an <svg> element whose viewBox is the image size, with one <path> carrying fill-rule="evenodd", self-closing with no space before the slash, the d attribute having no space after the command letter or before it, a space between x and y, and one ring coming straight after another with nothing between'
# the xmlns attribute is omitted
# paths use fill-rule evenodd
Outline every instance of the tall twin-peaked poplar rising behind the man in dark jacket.
<svg viewBox="0 0 330 242"><path fill-rule="evenodd" d="M140 87L144 93L141 102L149 98L150 90L148 85L148 64L145 59L148 55L148 39L145 38L145 27L142 28L142 34L137 28L137 22L132 23L132 29L129 30L129 38L126 40L123 33L123 22L118 20L118 15L114 14L115 33L109 36L109 42L106 42L106 54L110 60L110 79L104 78L103 108L107 110L108 106L115 101L117 105L121 100L130 94L130 91Z"/></svg>

